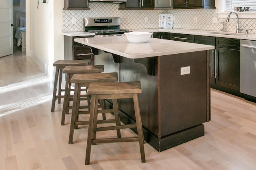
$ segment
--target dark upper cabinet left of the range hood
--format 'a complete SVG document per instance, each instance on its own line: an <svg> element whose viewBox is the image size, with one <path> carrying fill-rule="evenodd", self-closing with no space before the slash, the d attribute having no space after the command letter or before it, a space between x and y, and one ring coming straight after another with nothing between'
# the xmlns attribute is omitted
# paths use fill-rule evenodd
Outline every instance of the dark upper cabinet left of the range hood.
<svg viewBox="0 0 256 170"><path fill-rule="evenodd" d="M64 0L63 10L90 10L87 0Z"/></svg>

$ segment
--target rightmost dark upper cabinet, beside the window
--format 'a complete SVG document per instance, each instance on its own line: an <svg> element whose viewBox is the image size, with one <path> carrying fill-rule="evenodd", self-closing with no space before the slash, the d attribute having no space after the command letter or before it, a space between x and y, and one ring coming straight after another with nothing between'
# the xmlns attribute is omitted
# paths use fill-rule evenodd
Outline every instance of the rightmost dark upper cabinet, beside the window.
<svg viewBox="0 0 256 170"><path fill-rule="evenodd" d="M173 0L174 9L216 8L215 0Z"/></svg>

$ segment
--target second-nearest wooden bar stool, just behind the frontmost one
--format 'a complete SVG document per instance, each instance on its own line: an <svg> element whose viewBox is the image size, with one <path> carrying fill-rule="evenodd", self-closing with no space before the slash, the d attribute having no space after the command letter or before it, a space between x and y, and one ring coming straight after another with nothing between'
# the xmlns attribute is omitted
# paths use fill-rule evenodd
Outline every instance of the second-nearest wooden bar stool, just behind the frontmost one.
<svg viewBox="0 0 256 170"><path fill-rule="evenodd" d="M70 80L71 83L75 84L74 98L72 105L72 115L70 122L70 133L68 143L73 143L74 129L78 128L78 125L88 125L89 121L79 121L79 114L89 114L90 111L80 111L80 93L82 87L89 87L93 82L116 82L117 73L93 73L93 74L74 74ZM102 110L99 113L113 113L113 109L105 109L104 100L100 101ZM115 120L100 120L100 123L113 123ZM120 130L118 132L120 134Z"/></svg>

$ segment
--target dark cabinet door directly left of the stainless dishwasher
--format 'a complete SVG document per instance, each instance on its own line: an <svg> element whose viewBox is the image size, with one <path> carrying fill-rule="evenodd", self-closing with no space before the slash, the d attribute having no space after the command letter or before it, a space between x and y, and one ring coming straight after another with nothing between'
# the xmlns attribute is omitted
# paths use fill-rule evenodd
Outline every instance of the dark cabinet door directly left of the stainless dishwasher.
<svg viewBox="0 0 256 170"><path fill-rule="evenodd" d="M240 51L216 47L216 84L240 90Z"/></svg>

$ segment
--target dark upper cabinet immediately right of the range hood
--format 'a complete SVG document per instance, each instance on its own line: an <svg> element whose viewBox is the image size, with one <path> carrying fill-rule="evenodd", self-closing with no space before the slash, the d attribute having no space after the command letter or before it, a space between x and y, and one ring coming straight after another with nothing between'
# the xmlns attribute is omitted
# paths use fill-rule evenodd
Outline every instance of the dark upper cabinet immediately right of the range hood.
<svg viewBox="0 0 256 170"><path fill-rule="evenodd" d="M154 9L154 0L127 0L119 5L119 10L149 10Z"/></svg>

